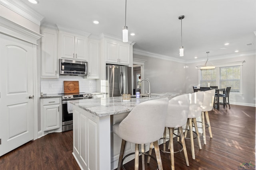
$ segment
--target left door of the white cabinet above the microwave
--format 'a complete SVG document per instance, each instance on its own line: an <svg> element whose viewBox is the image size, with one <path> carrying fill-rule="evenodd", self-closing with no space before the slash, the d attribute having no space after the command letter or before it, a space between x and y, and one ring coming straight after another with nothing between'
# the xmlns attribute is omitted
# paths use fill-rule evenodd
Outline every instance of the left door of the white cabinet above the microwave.
<svg viewBox="0 0 256 170"><path fill-rule="evenodd" d="M60 57L74 59L75 56L75 37L68 33L60 33Z"/></svg>

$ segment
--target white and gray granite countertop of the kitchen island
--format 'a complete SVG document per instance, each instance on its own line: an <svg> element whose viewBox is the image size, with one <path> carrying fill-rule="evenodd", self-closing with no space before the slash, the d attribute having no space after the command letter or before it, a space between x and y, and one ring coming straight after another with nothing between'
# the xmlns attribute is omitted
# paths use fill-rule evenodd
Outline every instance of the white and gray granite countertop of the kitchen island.
<svg viewBox="0 0 256 170"><path fill-rule="evenodd" d="M129 101L122 100L121 96L110 98L95 98L86 100L68 101L68 105L73 104L99 117L114 115L118 113L130 112L136 105L148 100L159 98L174 98L183 93L154 93L152 97L131 98ZM70 106L68 106L70 107Z"/></svg>

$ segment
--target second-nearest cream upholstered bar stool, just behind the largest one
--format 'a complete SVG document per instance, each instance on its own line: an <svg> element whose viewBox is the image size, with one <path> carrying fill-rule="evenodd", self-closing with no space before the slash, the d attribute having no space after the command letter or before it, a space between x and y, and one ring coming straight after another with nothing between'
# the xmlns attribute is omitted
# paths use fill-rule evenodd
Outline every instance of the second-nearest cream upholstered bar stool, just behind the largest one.
<svg viewBox="0 0 256 170"><path fill-rule="evenodd" d="M161 139L164 139L164 144L163 144L164 149L161 151L170 153L170 158L171 158L170 162L171 162L172 170L174 170L174 148L173 148L174 128L178 128L178 131L180 132L180 137L181 137L184 156L186 159L186 164L187 164L187 166L189 166L188 153L187 153L187 149L186 149L182 126L186 125L186 121L188 119L190 96L191 96L191 94L182 94L180 96L176 96L176 97L172 98L171 100L169 100L169 104L168 104L168 112L167 112L166 121L165 121L164 137L161 138ZM166 129L169 129L169 138L166 138ZM170 149L170 152L166 151L166 139L169 139L168 149ZM150 150L149 150L148 154L151 155L152 149L153 149L153 145L151 143ZM148 163L149 163L149 161L150 161L150 157L148 157Z"/></svg>

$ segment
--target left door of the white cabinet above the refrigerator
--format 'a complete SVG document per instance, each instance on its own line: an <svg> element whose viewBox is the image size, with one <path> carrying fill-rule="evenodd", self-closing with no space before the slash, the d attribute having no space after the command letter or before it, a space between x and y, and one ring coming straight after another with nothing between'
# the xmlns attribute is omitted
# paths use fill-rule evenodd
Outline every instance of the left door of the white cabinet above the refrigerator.
<svg viewBox="0 0 256 170"><path fill-rule="evenodd" d="M106 62L119 63L118 43L106 41Z"/></svg>

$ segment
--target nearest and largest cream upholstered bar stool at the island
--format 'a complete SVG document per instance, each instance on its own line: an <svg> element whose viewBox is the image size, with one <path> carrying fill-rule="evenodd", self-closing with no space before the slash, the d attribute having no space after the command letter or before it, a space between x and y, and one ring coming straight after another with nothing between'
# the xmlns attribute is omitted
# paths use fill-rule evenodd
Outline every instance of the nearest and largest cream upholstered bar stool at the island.
<svg viewBox="0 0 256 170"><path fill-rule="evenodd" d="M153 143L158 168L163 170L158 139L164 133L168 101L168 98L163 98L142 102L135 106L120 123L113 125L113 132L122 139L118 170L123 168L122 162L126 158L126 156L123 158L126 141L135 143L135 152L132 153L135 154L134 170L139 168L139 154L146 154L139 152L139 144L146 143Z"/></svg>

